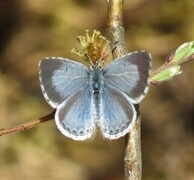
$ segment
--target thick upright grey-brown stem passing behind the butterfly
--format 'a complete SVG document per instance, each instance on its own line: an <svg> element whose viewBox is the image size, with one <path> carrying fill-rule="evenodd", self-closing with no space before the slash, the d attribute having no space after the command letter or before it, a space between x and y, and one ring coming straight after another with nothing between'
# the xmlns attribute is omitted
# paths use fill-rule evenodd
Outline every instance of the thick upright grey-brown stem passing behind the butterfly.
<svg viewBox="0 0 194 180"><path fill-rule="evenodd" d="M108 35L112 47L118 42L113 53L114 58L126 54L125 36L123 27L123 2L124 0L108 0ZM125 154L125 179L140 180L142 174L141 161L141 119L136 121L127 139Z"/></svg>

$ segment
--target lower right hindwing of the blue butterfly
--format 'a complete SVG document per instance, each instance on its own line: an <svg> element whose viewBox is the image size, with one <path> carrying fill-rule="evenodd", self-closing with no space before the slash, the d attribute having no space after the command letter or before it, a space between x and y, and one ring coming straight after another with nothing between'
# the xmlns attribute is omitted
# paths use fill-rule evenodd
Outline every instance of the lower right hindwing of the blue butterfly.
<svg viewBox="0 0 194 180"><path fill-rule="evenodd" d="M100 126L104 137L117 139L127 134L137 118L130 99L113 86L104 84L102 106Z"/></svg>

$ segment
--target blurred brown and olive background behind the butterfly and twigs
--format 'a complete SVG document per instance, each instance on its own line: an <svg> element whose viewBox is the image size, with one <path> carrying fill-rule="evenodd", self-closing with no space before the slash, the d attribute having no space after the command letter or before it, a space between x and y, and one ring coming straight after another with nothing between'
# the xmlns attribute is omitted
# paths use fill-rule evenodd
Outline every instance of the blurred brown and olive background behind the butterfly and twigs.
<svg viewBox="0 0 194 180"><path fill-rule="evenodd" d="M125 0L129 51L147 50L153 70L194 39L192 0ZM106 0L0 0L0 128L52 111L43 98L38 61L79 57L78 35L106 36ZM151 87L141 103L143 179L194 179L194 62L183 74ZM125 139L100 134L86 142L63 136L54 121L0 137L0 179L121 180Z"/></svg>

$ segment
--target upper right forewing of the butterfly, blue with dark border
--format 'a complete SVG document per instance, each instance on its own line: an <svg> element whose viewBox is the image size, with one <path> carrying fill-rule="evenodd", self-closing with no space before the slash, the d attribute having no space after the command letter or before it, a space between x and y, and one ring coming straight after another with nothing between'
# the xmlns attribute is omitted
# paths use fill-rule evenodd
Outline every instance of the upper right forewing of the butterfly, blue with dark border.
<svg viewBox="0 0 194 180"><path fill-rule="evenodd" d="M139 103L148 91L151 55L147 52L134 52L112 61L104 69L107 86L130 97L133 104Z"/></svg>

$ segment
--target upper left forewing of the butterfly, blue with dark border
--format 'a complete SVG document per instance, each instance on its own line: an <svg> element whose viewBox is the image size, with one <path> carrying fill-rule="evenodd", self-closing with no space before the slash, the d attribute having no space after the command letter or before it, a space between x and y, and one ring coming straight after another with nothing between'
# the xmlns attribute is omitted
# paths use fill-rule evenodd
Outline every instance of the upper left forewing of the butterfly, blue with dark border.
<svg viewBox="0 0 194 180"><path fill-rule="evenodd" d="M39 63L39 79L43 95L57 108L71 94L85 86L89 70L83 64L63 58L46 58Z"/></svg>

